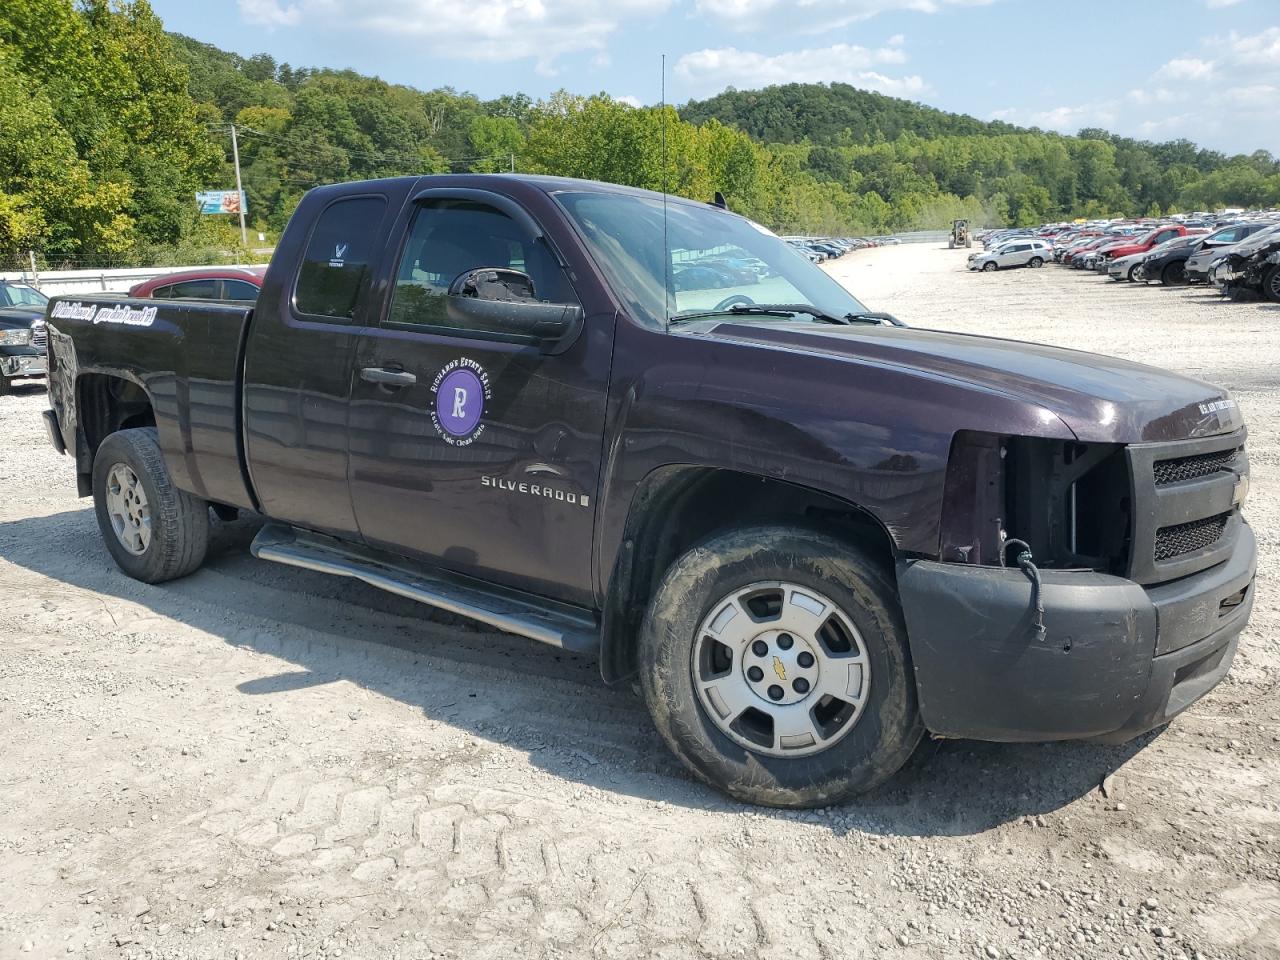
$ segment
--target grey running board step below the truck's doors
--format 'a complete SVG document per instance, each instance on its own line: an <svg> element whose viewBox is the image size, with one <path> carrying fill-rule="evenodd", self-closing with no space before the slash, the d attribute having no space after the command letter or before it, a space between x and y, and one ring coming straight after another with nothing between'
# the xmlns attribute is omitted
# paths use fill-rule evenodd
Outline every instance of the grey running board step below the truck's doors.
<svg viewBox="0 0 1280 960"><path fill-rule="evenodd" d="M319 534L268 524L253 538L250 552L259 559L361 580L379 590L573 653L600 649L599 626L585 611L442 571L408 570L390 557Z"/></svg>

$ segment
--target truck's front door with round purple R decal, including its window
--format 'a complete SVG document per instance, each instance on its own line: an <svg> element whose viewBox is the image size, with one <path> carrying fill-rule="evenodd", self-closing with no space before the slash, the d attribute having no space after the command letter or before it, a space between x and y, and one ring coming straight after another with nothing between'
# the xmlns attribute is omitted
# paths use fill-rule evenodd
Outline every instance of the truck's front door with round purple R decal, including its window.
<svg viewBox="0 0 1280 960"><path fill-rule="evenodd" d="M356 348L351 497L370 545L588 605L613 312L584 303L577 338L547 353L447 308L480 268L579 303L532 227L475 191L412 206L381 321Z"/></svg>

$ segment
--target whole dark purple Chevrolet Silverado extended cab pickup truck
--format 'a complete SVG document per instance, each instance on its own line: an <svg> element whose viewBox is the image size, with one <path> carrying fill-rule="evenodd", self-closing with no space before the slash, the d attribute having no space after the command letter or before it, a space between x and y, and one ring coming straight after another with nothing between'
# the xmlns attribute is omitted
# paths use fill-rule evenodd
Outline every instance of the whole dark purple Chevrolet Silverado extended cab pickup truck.
<svg viewBox="0 0 1280 960"><path fill-rule="evenodd" d="M927 731L1130 739L1225 676L1253 602L1220 388L905 328L722 205L321 187L255 306L47 325L50 439L125 573L191 573L210 509L251 511L264 561L639 675L746 801L847 799Z"/></svg>

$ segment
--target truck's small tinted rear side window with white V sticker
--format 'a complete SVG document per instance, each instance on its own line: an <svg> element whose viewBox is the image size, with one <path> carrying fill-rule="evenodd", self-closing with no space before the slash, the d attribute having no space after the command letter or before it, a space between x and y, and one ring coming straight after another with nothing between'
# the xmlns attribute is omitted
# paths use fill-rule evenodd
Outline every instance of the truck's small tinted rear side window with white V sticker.
<svg viewBox="0 0 1280 960"><path fill-rule="evenodd" d="M293 306L325 320L352 320L381 244L387 200L349 197L326 206L311 230Z"/></svg>

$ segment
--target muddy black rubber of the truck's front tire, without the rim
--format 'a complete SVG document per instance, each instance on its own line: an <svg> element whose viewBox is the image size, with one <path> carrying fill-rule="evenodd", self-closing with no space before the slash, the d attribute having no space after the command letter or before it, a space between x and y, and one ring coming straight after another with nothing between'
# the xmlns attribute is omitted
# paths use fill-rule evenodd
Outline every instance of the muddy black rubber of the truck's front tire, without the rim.
<svg viewBox="0 0 1280 960"><path fill-rule="evenodd" d="M724 736L703 710L690 669L709 607L737 586L787 580L826 593L852 620L870 658L870 695L852 730L806 756L756 754ZM645 613L640 684L667 746L703 782L735 800L827 806L892 777L924 735L906 626L881 567L826 534L762 526L716 536L680 557Z"/></svg>

